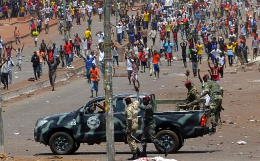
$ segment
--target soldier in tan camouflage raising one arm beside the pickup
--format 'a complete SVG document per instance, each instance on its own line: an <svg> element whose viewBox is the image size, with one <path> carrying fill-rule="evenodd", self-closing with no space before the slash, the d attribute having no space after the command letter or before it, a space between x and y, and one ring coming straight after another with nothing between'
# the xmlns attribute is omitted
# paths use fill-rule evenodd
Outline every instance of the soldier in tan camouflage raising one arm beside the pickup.
<svg viewBox="0 0 260 161"><path fill-rule="evenodd" d="M135 90L137 91L137 100L132 102L131 97L126 97L125 104L127 105L127 107L125 108L125 112L124 112L126 117L127 134L133 136L136 134L136 131L138 130L137 114L138 114L138 105L139 105L139 90L136 86L135 86ZM137 156L138 148L137 148L136 141L133 138L131 138L129 135L127 135L126 139L131 149L131 152L133 154L133 156L131 158L128 158L128 160L138 159Z"/></svg>

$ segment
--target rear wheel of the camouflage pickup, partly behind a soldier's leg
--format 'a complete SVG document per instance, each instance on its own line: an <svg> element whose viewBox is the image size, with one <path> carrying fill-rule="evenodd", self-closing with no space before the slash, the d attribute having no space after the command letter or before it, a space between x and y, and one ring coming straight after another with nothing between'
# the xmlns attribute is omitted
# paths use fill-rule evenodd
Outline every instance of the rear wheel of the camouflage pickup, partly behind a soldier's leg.
<svg viewBox="0 0 260 161"><path fill-rule="evenodd" d="M174 153L179 148L179 137L171 130L162 130L156 134L155 138L169 147L169 153ZM164 153L162 147L155 145L155 148L159 153Z"/></svg>

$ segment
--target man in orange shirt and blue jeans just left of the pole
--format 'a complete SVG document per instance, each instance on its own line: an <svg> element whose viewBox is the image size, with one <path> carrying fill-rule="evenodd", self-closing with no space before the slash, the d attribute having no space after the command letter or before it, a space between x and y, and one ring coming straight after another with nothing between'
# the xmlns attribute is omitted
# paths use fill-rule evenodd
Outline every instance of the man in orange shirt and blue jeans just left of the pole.
<svg viewBox="0 0 260 161"><path fill-rule="evenodd" d="M92 68L89 70L91 74L91 98L93 97L93 91L95 91L95 97L98 97L99 91L99 81L100 81L100 71L95 67L95 64L92 63Z"/></svg>

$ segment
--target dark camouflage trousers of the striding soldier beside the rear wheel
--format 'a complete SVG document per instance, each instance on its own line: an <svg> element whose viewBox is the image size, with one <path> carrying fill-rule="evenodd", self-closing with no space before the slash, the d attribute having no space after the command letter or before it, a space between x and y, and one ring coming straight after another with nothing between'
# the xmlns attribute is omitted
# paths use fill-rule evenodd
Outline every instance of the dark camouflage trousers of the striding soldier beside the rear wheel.
<svg viewBox="0 0 260 161"><path fill-rule="evenodd" d="M141 138L141 144L143 148L146 148L147 141L151 140L154 145L160 145L160 142L155 139L154 124L145 125Z"/></svg>

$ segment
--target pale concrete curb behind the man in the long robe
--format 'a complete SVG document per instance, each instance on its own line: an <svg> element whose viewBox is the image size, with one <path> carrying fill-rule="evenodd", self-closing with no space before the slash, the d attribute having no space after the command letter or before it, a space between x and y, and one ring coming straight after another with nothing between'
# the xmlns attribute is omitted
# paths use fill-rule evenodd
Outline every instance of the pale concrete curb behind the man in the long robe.
<svg viewBox="0 0 260 161"><path fill-rule="evenodd" d="M61 69L61 70L58 69L57 71L62 71L62 70L63 69ZM63 73L56 76L55 83L61 82L61 81L66 81L66 80L69 79L69 77L81 74L84 71L85 71L85 65L81 65L81 66L79 66L78 68L75 68L75 69L70 69L69 71L68 70L64 71ZM2 93L2 100L6 101L6 100L9 100L9 99L12 99L12 98L19 97L22 94L28 94L28 93L34 92L38 89L49 87L49 86L50 86L49 79L44 79L44 80L41 80L41 81L39 81L35 84L30 84L28 86L25 86L25 87L22 87L22 88L19 88L19 89L3 92Z"/></svg>

